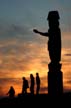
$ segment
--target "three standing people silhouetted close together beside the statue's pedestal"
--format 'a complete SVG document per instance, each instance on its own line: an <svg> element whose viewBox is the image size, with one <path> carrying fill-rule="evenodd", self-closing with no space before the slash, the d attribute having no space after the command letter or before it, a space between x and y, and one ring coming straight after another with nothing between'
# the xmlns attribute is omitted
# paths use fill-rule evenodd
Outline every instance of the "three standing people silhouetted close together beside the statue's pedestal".
<svg viewBox="0 0 71 108"><path fill-rule="evenodd" d="M35 78L33 76L33 74L30 74L30 85L28 84L28 80L23 77L23 85L22 85L22 94L27 93L27 89L30 89L30 93L34 94L34 87L36 84L36 94L39 94L39 90L40 90L40 77L39 77L39 73L36 73L36 83L35 83Z"/></svg>

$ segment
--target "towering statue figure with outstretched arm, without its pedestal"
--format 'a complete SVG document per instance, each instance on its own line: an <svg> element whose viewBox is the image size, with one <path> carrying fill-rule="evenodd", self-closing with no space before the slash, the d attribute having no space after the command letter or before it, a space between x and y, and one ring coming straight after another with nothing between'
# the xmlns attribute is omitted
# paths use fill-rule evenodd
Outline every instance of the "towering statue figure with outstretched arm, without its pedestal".
<svg viewBox="0 0 71 108"><path fill-rule="evenodd" d="M57 64L61 60L61 31L59 28L59 13L58 11L50 11L48 14L48 32L40 32L33 29L35 33L48 37L48 50L51 63Z"/></svg>

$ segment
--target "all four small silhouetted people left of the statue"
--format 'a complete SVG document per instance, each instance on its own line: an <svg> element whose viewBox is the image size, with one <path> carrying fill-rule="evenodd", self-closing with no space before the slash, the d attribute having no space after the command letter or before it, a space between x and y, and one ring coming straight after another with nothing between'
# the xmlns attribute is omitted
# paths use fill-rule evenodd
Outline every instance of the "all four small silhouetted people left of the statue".
<svg viewBox="0 0 71 108"><path fill-rule="evenodd" d="M34 94L35 92L35 85L36 85L36 94L39 94L40 91L40 77L39 77L39 73L36 73L36 78L33 76L33 74L30 74L30 84L27 80L26 77L22 77L22 92L21 94L27 94L28 91L27 89L30 89L30 94ZM13 86L10 86L9 91L7 92L7 95L9 95L9 97L13 98L15 96L15 89Z"/></svg>

